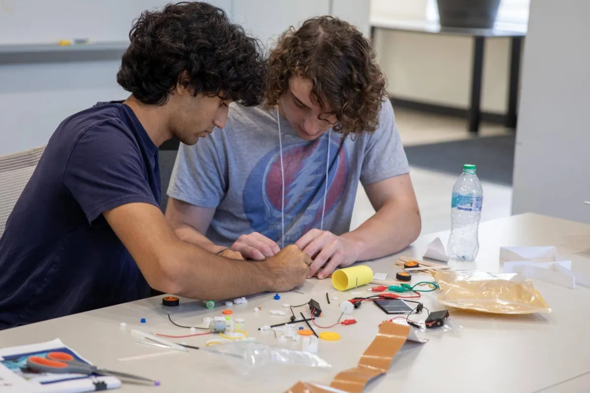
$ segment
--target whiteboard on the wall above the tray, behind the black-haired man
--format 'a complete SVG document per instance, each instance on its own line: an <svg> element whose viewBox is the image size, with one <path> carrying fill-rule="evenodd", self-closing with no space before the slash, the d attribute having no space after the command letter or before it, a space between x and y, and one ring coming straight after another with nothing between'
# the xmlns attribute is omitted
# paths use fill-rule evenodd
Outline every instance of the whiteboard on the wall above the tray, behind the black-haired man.
<svg viewBox="0 0 590 393"><path fill-rule="evenodd" d="M0 0L0 44L127 41L133 20L162 0ZM209 0L231 16L232 0Z"/></svg>

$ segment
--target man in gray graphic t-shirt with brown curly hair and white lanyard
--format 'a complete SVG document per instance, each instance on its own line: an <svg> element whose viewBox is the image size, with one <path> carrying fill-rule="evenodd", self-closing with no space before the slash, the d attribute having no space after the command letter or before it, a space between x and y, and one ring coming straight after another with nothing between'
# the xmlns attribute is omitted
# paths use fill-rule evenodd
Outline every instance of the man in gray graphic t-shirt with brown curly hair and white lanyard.
<svg viewBox="0 0 590 393"><path fill-rule="evenodd" d="M212 138L181 146L166 210L176 234L247 259L294 243L320 278L413 242L418 204L369 41L312 18L278 39L269 68L264 107L236 108ZM350 231L359 180L376 214Z"/></svg>

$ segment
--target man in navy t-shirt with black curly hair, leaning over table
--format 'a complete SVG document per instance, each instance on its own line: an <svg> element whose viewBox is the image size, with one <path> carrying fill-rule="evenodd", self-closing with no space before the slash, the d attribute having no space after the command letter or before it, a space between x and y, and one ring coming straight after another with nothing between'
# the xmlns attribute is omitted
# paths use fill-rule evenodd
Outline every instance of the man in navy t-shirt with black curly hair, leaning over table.
<svg viewBox="0 0 590 393"><path fill-rule="evenodd" d="M159 210L158 146L223 128L228 104L257 105L260 45L199 2L144 12L117 82L131 95L66 118L0 239L0 329L145 298L152 288L227 299L303 283L296 246L259 263L175 236Z"/></svg>

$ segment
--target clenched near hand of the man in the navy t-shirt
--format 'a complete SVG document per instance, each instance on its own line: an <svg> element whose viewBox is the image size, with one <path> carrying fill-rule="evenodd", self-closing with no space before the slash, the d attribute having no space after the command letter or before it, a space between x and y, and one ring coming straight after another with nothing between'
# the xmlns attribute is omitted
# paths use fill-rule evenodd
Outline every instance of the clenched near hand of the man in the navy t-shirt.
<svg viewBox="0 0 590 393"><path fill-rule="evenodd" d="M258 262L253 262L258 263ZM296 245L289 245L277 255L264 260L268 292L284 292L305 282L312 259Z"/></svg>

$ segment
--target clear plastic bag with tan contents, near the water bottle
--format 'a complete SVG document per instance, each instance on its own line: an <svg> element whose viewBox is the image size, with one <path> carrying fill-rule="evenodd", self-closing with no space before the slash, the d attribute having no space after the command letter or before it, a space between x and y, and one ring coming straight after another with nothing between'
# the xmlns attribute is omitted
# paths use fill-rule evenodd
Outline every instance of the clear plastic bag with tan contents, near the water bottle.
<svg viewBox="0 0 590 393"><path fill-rule="evenodd" d="M518 273L435 270L438 301L459 309L500 314L548 313L551 309L530 280Z"/></svg>

